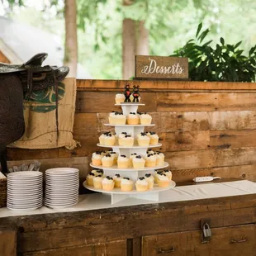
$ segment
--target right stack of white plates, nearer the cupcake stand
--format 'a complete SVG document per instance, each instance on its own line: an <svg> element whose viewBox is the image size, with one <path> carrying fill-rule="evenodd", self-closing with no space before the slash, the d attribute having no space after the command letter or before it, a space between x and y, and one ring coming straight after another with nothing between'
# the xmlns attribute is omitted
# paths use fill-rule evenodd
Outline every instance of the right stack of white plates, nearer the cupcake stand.
<svg viewBox="0 0 256 256"><path fill-rule="evenodd" d="M51 168L45 171L45 176L45 206L63 208L78 203L77 168Z"/></svg>

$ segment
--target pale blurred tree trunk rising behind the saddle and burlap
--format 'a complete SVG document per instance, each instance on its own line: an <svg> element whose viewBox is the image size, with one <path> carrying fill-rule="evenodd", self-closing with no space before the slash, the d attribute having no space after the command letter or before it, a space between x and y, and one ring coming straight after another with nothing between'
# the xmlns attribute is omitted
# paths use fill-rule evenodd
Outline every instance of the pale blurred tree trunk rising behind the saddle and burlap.
<svg viewBox="0 0 256 256"><path fill-rule="evenodd" d="M65 55L64 64L69 67L69 77L77 76L78 34L76 0L65 0Z"/></svg>

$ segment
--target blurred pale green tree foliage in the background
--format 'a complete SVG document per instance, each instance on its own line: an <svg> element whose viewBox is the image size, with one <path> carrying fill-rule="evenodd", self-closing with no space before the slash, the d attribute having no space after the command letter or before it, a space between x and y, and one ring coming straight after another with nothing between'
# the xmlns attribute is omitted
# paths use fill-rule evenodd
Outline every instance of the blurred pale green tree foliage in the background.
<svg viewBox="0 0 256 256"><path fill-rule="evenodd" d="M0 0L0 15L55 33L64 44L64 0ZM220 36L248 52L256 44L256 1L77 0L78 62L93 78L122 75L123 21L145 21L149 55L172 55L194 38L200 22L216 45Z"/></svg>

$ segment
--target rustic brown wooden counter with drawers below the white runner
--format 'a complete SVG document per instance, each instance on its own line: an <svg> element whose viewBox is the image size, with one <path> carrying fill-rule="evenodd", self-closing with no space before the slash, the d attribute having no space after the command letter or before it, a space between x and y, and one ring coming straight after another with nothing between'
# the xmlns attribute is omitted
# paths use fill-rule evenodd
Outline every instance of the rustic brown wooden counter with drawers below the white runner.
<svg viewBox="0 0 256 256"><path fill-rule="evenodd" d="M3 217L1 255L16 255L16 249L19 255L54 256L256 255L256 188L254 183L242 183L247 188L239 182L235 185L241 193L229 191L227 183L224 195L237 195L233 197L218 197L220 186L207 184L203 186L211 189L190 186L193 193L189 187L178 187L187 201L171 196L159 203L126 201L123 206L97 209L102 195L94 194L83 201L87 211ZM216 198L193 200L197 192L201 198L214 197L216 192ZM206 244L201 244L201 221L211 227L211 241Z"/></svg>

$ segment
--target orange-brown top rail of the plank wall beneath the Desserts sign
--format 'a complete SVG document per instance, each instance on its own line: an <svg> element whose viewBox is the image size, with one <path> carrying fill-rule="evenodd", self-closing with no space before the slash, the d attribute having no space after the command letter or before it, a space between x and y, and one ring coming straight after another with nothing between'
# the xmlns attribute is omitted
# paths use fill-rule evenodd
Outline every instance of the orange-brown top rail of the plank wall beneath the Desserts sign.
<svg viewBox="0 0 256 256"><path fill-rule="evenodd" d="M97 80L77 79L78 91L122 91L124 85L140 85L144 91L254 91L256 83L235 82L191 82L191 81L166 81L166 80Z"/></svg>

